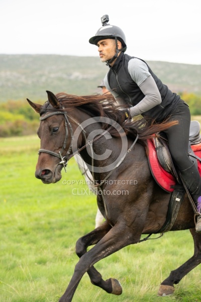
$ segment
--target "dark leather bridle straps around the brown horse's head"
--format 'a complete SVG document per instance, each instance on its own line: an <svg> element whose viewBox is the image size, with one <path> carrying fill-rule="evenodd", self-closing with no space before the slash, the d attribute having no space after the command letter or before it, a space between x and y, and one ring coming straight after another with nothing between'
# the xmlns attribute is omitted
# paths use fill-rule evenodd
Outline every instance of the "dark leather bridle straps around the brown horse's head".
<svg viewBox="0 0 201 302"><path fill-rule="evenodd" d="M71 126L71 124L70 124L70 122L68 120L66 112L55 111L55 112L48 113L45 116L40 117L40 121L44 121L48 117L53 116L53 115L57 115L57 114L63 114L64 115L64 119L65 119L66 136L65 136L65 139L64 139L61 151L59 151L58 153L56 153L56 152L53 152L51 150L39 149L38 150L38 154L40 155L41 153L47 153L47 154L50 154L52 156L55 156L55 157L59 158L61 161L60 161L60 163L58 163L58 165L63 165L63 168L64 168L64 170L66 172L66 166L68 164L68 155L70 154L71 149L72 149L72 126ZM71 141L70 141L70 145L69 145L69 148L68 148L68 151L67 151L66 155L62 156L63 150L66 147L66 142L67 142L67 138L68 138L68 127L70 128L70 139L71 139Z"/></svg>

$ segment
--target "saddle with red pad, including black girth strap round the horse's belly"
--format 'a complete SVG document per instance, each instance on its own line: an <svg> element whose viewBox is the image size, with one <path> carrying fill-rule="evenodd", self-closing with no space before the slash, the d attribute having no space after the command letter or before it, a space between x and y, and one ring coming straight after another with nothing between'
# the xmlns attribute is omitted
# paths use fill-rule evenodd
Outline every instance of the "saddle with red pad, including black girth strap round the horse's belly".
<svg viewBox="0 0 201 302"><path fill-rule="evenodd" d="M173 165L167 141L159 134L149 139L147 144L148 162L152 176L162 189L171 193L166 220L162 228L157 231L157 233L164 233L171 230L176 220L185 190ZM188 154L197 165L201 177L201 135L198 121L190 123Z"/></svg>

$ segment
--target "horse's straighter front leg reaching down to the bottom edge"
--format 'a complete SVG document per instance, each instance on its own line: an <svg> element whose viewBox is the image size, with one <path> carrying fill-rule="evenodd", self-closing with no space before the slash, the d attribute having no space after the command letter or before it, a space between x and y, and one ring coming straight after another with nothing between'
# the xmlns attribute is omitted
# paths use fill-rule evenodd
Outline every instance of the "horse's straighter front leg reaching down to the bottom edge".
<svg viewBox="0 0 201 302"><path fill-rule="evenodd" d="M138 228L138 230L131 229L123 223L116 224L91 250L81 256L79 262L75 266L74 274L70 283L59 302L70 302L84 273L91 269L99 260L119 251L125 246L137 243L140 240L141 231L142 230L140 230L140 228ZM86 238L87 237L88 236L86 236ZM94 268L92 268L92 273L91 270L89 270L89 275L91 273L92 278L94 277L93 269ZM111 292L113 292L112 281L111 285ZM114 286L117 286L116 282Z"/></svg>

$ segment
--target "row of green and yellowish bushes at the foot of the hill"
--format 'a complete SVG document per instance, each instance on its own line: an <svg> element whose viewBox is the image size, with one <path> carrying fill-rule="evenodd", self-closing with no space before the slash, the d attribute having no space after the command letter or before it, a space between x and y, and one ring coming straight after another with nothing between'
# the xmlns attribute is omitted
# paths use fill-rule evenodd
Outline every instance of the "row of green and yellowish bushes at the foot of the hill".
<svg viewBox="0 0 201 302"><path fill-rule="evenodd" d="M180 96L189 105L191 115L201 115L201 96L193 93L180 93ZM0 103L0 137L35 134L38 126L39 115L27 102L9 100Z"/></svg>

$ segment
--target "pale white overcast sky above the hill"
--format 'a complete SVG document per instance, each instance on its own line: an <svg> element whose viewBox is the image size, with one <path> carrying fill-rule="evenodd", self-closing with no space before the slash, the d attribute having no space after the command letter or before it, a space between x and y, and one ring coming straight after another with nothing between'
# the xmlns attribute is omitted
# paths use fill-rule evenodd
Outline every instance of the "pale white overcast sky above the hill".
<svg viewBox="0 0 201 302"><path fill-rule="evenodd" d="M201 64L201 0L0 0L0 53L97 56L108 14L144 60Z"/></svg>

